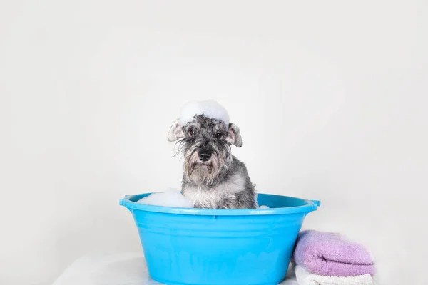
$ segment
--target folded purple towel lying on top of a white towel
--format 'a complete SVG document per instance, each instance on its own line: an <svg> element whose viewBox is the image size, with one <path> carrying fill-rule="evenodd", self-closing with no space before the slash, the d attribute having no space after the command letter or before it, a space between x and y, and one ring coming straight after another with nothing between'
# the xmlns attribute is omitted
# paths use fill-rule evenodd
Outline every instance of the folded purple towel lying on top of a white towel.
<svg viewBox="0 0 428 285"><path fill-rule="evenodd" d="M322 276L375 273L374 261L365 247L332 232L300 232L292 261L310 273Z"/></svg>

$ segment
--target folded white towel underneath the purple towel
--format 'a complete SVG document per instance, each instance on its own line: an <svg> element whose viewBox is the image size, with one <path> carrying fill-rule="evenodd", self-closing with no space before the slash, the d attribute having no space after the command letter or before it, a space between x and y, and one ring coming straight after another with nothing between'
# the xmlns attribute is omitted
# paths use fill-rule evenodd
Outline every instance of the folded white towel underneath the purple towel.
<svg viewBox="0 0 428 285"><path fill-rule="evenodd" d="M310 274L303 267L295 266L297 283L299 285L374 285L370 274L357 276L321 276Z"/></svg>

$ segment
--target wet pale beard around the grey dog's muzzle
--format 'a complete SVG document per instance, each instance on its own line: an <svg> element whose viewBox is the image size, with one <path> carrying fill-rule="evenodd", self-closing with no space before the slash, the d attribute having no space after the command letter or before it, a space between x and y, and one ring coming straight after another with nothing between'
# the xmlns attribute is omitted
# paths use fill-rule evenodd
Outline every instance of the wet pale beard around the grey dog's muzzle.
<svg viewBox="0 0 428 285"><path fill-rule="evenodd" d="M205 183L210 185L220 174L223 168L222 165L225 165L225 162L220 160L218 155L214 153L207 162L200 161L198 156L198 151L196 150L186 153L185 176L188 180L193 180L198 184Z"/></svg>

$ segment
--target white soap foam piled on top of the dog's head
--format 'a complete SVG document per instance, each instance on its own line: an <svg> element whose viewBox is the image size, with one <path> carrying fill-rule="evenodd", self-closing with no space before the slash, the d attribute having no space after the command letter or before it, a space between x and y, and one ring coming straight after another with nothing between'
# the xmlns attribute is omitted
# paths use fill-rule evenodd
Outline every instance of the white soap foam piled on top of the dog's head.
<svg viewBox="0 0 428 285"><path fill-rule="evenodd" d="M188 122L191 122L195 115L205 115L208 118L223 120L226 125L229 125L230 123L228 110L215 100L185 103L180 110L180 125L185 125Z"/></svg>

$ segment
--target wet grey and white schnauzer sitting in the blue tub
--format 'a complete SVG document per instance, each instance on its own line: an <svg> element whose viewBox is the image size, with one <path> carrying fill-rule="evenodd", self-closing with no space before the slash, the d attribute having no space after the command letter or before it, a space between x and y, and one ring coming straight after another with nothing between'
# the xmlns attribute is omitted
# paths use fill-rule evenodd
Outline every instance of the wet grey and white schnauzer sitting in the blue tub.
<svg viewBox="0 0 428 285"><path fill-rule="evenodd" d="M180 125L175 120L168 140L178 141L183 152L182 192L195 208L253 209L258 206L247 168L231 153L242 146L238 127L223 120L195 115Z"/></svg>

